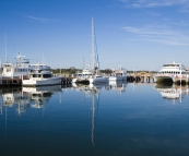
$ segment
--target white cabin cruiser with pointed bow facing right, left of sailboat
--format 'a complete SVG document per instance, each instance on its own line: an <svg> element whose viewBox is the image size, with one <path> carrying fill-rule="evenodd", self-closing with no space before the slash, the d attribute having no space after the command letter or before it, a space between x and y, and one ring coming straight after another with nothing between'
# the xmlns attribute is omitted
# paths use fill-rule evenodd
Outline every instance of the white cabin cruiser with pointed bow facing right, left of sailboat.
<svg viewBox="0 0 189 156"><path fill-rule="evenodd" d="M61 84L61 76L54 76L46 64L32 64L28 80L23 80L24 86L42 86Z"/></svg>

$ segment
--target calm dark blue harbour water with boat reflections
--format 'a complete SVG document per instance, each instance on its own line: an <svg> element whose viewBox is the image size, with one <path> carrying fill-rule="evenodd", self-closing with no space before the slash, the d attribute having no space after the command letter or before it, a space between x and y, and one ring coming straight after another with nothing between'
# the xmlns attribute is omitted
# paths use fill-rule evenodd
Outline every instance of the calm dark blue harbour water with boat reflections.
<svg viewBox="0 0 189 156"><path fill-rule="evenodd" d="M189 155L188 86L0 89L0 155Z"/></svg>

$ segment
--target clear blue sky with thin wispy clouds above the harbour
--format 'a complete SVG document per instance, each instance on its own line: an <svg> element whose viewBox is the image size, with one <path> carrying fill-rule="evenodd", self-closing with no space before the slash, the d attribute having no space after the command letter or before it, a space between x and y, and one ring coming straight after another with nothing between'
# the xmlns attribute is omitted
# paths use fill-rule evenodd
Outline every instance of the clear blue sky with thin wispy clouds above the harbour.
<svg viewBox="0 0 189 156"><path fill-rule="evenodd" d="M51 68L91 62L95 22L101 69L189 67L189 0L1 0L0 59L17 52ZM4 34L7 39L4 39Z"/></svg>

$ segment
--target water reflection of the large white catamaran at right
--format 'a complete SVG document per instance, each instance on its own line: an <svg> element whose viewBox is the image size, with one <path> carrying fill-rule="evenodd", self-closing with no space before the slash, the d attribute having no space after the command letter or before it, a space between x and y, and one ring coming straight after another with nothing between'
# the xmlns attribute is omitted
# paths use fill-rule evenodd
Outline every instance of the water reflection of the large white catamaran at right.
<svg viewBox="0 0 189 156"><path fill-rule="evenodd" d="M164 85L164 84L156 84L154 87L161 93L163 98L172 99L174 103L175 100L180 100L188 95L189 88L188 85Z"/></svg>

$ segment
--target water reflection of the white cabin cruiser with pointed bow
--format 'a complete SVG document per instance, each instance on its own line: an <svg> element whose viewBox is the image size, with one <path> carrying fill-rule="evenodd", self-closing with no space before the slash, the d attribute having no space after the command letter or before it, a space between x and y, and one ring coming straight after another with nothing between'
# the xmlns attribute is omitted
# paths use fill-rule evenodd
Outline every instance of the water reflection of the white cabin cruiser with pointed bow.
<svg viewBox="0 0 189 156"><path fill-rule="evenodd" d="M43 108L47 105L55 92L61 92L61 85L23 87L23 92L29 95L32 108Z"/></svg>

